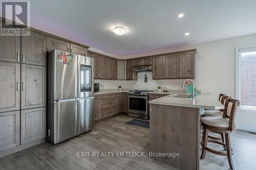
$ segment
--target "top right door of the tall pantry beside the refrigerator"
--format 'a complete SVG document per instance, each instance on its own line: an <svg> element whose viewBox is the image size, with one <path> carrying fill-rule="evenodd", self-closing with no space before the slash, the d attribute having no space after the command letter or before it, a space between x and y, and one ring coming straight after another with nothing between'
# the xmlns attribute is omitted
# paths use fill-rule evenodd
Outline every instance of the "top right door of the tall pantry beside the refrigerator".
<svg viewBox="0 0 256 170"><path fill-rule="evenodd" d="M34 65L46 65L47 37L35 32L22 36L21 62Z"/></svg>

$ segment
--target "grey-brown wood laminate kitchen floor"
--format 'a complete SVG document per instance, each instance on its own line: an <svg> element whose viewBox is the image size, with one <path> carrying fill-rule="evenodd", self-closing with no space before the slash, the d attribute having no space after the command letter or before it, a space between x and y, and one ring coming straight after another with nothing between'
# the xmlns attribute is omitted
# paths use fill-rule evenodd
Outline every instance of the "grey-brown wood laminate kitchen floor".
<svg viewBox="0 0 256 170"><path fill-rule="evenodd" d="M149 157L77 157L78 151L148 152L150 131L125 124L131 117L120 115L95 125L94 130L56 145L41 143L0 158L2 169L174 169ZM236 169L256 169L256 135L245 131L231 134ZM223 150L220 146L211 145ZM200 153L201 154L201 153ZM229 169L227 158L206 153L200 169Z"/></svg>

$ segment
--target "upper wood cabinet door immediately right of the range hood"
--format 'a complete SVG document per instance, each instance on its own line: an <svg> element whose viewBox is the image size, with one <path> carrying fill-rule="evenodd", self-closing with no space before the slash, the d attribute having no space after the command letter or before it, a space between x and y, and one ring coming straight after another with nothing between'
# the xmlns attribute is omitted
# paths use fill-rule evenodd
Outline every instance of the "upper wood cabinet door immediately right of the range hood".
<svg viewBox="0 0 256 170"><path fill-rule="evenodd" d="M165 77L165 56L153 58L153 79L163 79Z"/></svg>

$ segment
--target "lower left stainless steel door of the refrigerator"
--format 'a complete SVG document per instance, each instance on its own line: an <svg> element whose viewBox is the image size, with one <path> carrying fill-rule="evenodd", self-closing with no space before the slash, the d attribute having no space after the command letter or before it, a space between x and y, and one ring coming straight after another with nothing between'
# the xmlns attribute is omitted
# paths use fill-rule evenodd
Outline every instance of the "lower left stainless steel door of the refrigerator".
<svg viewBox="0 0 256 170"><path fill-rule="evenodd" d="M52 127L54 139L58 143L77 135L77 104L76 99L52 101L54 105L54 120ZM54 123L54 125L53 125Z"/></svg>

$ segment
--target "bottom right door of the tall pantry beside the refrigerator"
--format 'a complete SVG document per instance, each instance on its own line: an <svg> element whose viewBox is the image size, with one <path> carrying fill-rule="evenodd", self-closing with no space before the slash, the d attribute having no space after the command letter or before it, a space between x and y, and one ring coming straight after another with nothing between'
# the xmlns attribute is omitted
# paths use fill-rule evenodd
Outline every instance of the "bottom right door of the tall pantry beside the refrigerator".
<svg viewBox="0 0 256 170"><path fill-rule="evenodd" d="M46 137L46 107L22 110L20 144Z"/></svg>

